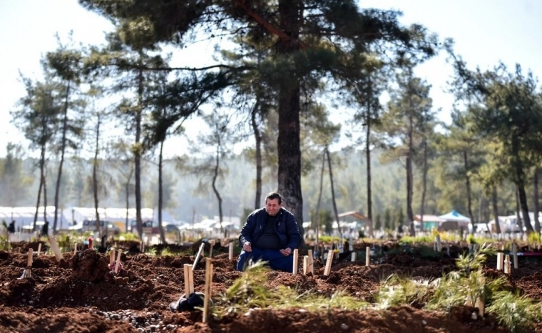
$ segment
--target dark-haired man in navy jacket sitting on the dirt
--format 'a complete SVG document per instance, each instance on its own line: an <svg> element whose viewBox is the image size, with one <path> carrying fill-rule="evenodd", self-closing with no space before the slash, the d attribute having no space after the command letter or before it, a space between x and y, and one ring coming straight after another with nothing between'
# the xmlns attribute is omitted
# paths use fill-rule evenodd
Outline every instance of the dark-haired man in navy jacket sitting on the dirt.
<svg viewBox="0 0 542 333"><path fill-rule="evenodd" d="M239 236L243 251L237 270L243 271L250 259L268 262L277 271L293 271L293 250L301 244L301 234L292 213L282 205L282 196L271 192L265 196L265 207L247 217Z"/></svg>

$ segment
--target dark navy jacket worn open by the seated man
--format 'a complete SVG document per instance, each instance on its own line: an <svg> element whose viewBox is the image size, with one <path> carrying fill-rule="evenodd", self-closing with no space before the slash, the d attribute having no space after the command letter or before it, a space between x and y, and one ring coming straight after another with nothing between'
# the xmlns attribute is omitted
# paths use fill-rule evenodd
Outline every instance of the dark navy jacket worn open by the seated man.
<svg viewBox="0 0 542 333"><path fill-rule="evenodd" d="M267 218L267 212L265 207L255 210L247 217L247 222L241 229L239 236L239 244L243 247L246 241L254 245L258 237L261 236L263 229L265 228L265 219ZM280 207L277 213L277 223L275 224L275 231L281 239L281 248L299 248L301 244L301 234L299 234L299 228L297 228L297 222L292 213L288 212L284 207Z"/></svg>

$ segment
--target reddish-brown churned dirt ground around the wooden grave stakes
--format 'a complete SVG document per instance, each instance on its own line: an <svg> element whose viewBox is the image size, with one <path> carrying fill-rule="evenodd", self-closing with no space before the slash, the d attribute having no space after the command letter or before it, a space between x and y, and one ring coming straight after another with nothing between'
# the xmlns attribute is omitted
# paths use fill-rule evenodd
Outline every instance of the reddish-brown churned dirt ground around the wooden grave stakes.
<svg viewBox="0 0 542 333"><path fill-rule="evenodd" d="M3 332L506 332L495 318L472 318L475 309L460 307L445 313L422 310L416 305L393 307L386 311L341 311L312 313L304 309L256 309L247 314L211 318L202 323L201 311L172 313L170 302L183 292L183 265L192 264L193 256L153 256L137 253L137 244L117 244L122 254L122 270L115 274L108 268L109 257L95 250L63 253L57 262L54 255L35 255L30 278L21 278L26 268L28 248L38 244L12 244L10 252L0 251L0 333ZM370 244L356 244L360 249ZM195 253L199 244L183 248ZM181 247L173 246L172 251ZM412 253L383 255L375 264L347 260L334 264L324 276L324 264L315 261L315 274L293 275L271 271L266 287L279 285L303 291L331 295L344 290L351 296L374 301L379 281L391 273L409 277L439 278L454 268L452 257L421 259ZM161 248L156 248L160 252ZM228 259L228 248L213 250L212 297L220 296L240 277L235 260ZM208 254L208 245L205 253ZM299 255L306 255L301 251ZM300 260L302 267L302 260ZM500 275L495 264L484 268L488 275ZM300 269L301 271L301 269ZM520 258L520 268L513 270L510 283L535 300L542 298L542 268L532 258ZM195 291L204 291L205 265L200 261L194 270ZM542 331L542 325L536 331Z"/></svg>

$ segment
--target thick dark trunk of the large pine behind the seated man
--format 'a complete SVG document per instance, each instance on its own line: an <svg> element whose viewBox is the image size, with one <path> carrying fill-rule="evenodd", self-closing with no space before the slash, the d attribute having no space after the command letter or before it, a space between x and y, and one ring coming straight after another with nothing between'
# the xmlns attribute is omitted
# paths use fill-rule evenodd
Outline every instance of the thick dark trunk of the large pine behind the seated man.
<svg viewBox="0 0 542 333"><path fill-rule="evenodd" d="M288 38L277 42L280 56L288 57L299 51L299 17L303 1L279 0L280 28ZM290 76L279 87L279 192L284 205L297 220L303 234L303 196L301 191L301 150L299 147L300 85L297 76Z"/></svg>

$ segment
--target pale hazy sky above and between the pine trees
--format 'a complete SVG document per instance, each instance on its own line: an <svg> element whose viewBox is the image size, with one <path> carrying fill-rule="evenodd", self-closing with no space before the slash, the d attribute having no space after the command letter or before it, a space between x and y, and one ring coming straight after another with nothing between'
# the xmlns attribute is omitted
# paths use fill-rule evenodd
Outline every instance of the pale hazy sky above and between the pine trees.
<svg viewBox="0 0 542 333"><path fill-rule="evenodd" d="M517 62L542 77L542 1L362 0L360 4L401 10L403 24L419 23L441 38L452 37L455 50L470 68L488 69L501 60L509 67ZM28 144L10 124L10 110L25 95L19 71L40 76L40 58L56 49L56 33L63 41L73 31L75 42L102 44L104 31L110 28L106 19L83 9L76 0L0 0L0 156L6 154L8 142L22 142L25 148ZM200 47L198 52L211 47ZM445 56L429 60L416 74L432 84L434 107L442 108L441 118L448 121L453 99L443 88L452 69ZM167 155L174 152L174 144L165 146Z"/></svg>

